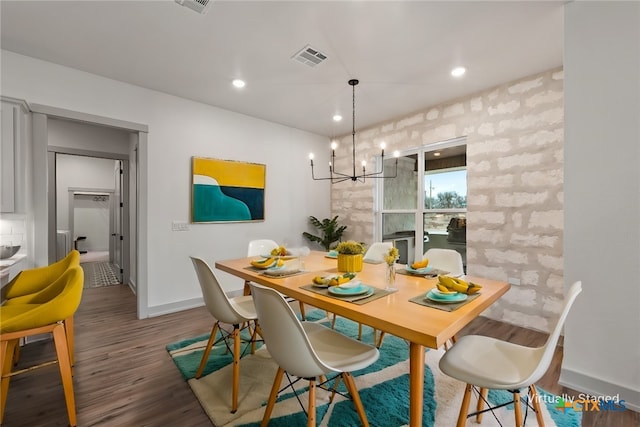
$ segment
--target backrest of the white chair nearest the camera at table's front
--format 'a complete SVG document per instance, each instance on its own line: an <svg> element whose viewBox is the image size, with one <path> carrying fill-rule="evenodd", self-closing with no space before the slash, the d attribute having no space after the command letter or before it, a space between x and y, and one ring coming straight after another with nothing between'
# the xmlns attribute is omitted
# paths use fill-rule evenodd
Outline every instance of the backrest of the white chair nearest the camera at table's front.
<svg viewBox="0 0 640 427"><path fill-rule="evenodd" d="M282 369L301 378L333 371L319 360L300 320L282 295L255 283L251 283L251 295L264 342Z"/></svg>

